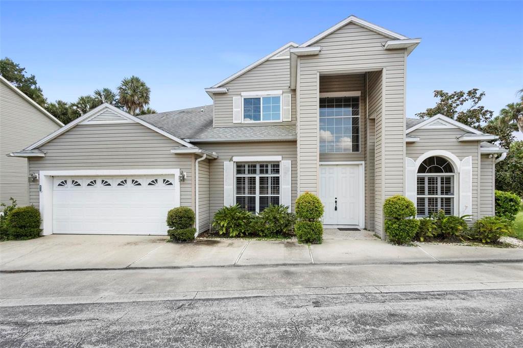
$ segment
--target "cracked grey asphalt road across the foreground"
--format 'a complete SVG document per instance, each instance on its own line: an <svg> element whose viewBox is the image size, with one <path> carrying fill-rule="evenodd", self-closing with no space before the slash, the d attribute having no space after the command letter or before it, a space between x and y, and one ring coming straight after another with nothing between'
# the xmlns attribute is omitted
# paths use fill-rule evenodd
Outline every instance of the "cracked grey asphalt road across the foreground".
<svg viewBox="0 0 523 348"><path fill-rule="evenodd" d="M0 346L521 347L522 299L506 289L4 307Z"/></svg>

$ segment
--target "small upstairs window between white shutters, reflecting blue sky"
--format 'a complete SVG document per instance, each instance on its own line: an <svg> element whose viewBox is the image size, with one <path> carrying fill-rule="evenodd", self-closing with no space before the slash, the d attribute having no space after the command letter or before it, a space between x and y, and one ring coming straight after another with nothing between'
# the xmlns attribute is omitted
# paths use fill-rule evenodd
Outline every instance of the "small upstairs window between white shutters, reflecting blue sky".
<svg viewBox="0 0 523 348"><path fill-rule="evenodd" d="M281 96L243 98L243 122L278 121L281 121Z"/></svg>

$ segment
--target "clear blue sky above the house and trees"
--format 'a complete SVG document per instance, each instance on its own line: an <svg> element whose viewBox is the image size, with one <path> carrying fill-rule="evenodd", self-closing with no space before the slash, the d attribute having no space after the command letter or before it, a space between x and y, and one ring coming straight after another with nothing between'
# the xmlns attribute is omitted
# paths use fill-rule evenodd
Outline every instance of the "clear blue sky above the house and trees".
<svg viewBox="0 0 523 348"><path fill-rule="evenodd" d="M433 90L486 91L499 111L523 87L523 2L5 2L1 55L35 74L50 101L137 75L151 107L211 103L203 88L288 41L354 14L422 38L407 63L407 115Z"/></svg>

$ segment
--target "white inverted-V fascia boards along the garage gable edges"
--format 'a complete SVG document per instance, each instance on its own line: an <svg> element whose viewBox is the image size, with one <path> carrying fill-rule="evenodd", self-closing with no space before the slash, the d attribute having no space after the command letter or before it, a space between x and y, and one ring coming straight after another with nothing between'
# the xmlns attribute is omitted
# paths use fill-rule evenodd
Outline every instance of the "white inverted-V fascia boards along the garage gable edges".
<svg viewBox="0 0 523 348"><path fill-rule="evenodd" d="M111 111L119 114L119 115L122 115L122 117L125 117L131 121L134 121L134 122L137 122L137 123L140 123L141 125L144 125L146 126L147 128L149 129L152 129L153 131L157 132L157 133L160 133L166 137L168 137L169 139L171 140L174 140L175 142L177 143L180 143L181 145L184 145L184 146L187 146L187 147L192 147L194 145L184 141L184 140L181 140L180 138L170 134L170 133L167 133L157 127L155 127L154 125L152 125L151 123L149 122L145 122L144 120L138 118L138 117L135 117L123 110L120 110L118 109L117 107L115 106L112 106L108 103L103 103L102 105L94 108L93 110L90 110L89 112L86 112L84 115L82 115L81 117L77 118L76 120L70 122L70 123L67 123L67 125L63 126L62 128L60 128L59 130L56 130L54 131L53 133L49 134L48 136L44 137L43 139L39 140L38 142L26 147L24 149L24 151L26 150L32 150L32 149L35 149L35 148L38 148L48 142L50 142L51 140L53 140L54 138L58 137L59 135L69 131L71 128L73 128L74 126L76 126L78 123L81 123L83 121L85 121L86 119L92 117L94 114L98 113L100 110L102 109L110 109Z"/></svg>

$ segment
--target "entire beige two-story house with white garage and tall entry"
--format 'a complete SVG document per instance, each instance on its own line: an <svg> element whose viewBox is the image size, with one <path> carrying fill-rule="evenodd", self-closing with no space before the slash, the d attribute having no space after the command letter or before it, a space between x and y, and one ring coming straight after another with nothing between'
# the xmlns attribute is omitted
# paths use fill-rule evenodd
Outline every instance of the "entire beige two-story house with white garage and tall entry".
<svg viewBox="0 0 523 348"><path fill-rule="evenodd" d="M224 205L294 209L310 191L323 223L384 238L383 201L494 214L494 161L506 152L438 115L405 118L407 56L420 39L350 16L206 88L212 106L131 116L102 105L25 148L43 233L165 234L173 206L209 228Z"/></svg>

